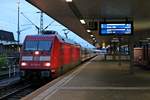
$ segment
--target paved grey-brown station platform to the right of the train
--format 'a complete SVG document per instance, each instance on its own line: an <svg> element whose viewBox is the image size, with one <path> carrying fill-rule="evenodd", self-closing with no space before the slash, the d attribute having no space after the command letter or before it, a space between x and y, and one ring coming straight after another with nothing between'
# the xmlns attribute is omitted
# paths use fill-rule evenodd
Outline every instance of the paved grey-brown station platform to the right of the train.
<svg viewBox="0 0 150 100"><path fill-rule="evenodd" d="M130 74L128 61L99 55L22 100L150 100L150 70L135 67Z"/></svg>

